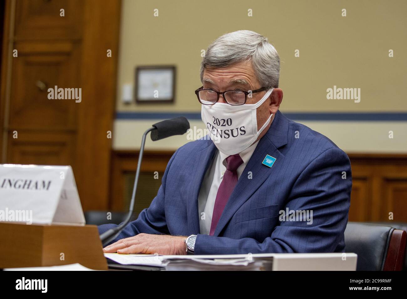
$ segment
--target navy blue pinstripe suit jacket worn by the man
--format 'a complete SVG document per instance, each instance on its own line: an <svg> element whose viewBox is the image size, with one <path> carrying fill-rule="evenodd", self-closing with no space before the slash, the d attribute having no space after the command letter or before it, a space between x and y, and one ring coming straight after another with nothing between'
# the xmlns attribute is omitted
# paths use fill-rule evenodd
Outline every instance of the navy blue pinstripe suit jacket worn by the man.
<svg viewBox="0 0 407 299"><path fill-rule="evenodd" d="M199 234L197 199L216 150L211 140L180 147L150 207L116 240L197 234L195 254L343 252L352 176L348 156L332 141L276 113L209 236ZM276 158L271 168L262 164L266 155ZM287 208L312 210L313 223L280 221L279 211ZM111 226L101 225L99 232Z"/></svg>

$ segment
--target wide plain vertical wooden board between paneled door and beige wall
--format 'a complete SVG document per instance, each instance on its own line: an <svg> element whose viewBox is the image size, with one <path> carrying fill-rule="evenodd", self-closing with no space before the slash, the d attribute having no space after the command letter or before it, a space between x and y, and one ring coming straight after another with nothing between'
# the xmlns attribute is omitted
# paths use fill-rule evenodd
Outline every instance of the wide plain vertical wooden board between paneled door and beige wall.
<svg viewBox="0 0 407 299"><path fill-rule="evenodd" d="M96 9L97 8L97 9ZM84 210L109 205L110 157L116 103L120 1L83 1L82 102L78 111L75 178ZM107 50L112 57L107 57Z"/></svg>

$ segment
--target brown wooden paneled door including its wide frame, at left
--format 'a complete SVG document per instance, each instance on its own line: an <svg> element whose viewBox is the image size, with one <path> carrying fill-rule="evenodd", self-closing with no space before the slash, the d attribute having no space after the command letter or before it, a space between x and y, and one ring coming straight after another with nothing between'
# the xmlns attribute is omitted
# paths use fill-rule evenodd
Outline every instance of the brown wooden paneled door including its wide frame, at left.
<svg viewBox="0 0 407 299"><path fill-rule="evenodd" d="M119 25L118 0L4 7L1 162L71 165L84 210L109 203ZM80 91L81 100L50 98L55 86Z"/></svg>

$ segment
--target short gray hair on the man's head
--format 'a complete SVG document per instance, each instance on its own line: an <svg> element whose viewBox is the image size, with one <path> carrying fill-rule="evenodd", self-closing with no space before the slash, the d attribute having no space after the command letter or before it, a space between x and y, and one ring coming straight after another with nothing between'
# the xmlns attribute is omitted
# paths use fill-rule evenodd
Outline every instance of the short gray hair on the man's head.
<svg viewBox="0 0 407 299"><path fill-rule="evenodd" d="M239 30L218 37L206 50L201 62L201 82L206 67L224 68L240 61L252 61L262 87L278 87L280 57L263 35Z"/></svg>

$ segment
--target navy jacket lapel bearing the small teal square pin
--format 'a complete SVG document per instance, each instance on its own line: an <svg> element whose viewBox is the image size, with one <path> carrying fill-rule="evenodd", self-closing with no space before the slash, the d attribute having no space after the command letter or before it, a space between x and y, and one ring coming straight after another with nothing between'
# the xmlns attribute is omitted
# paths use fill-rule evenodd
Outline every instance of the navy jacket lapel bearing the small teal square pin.
<svg viewBox="0 0 407 299"><path fill-rule="evenodd" d="M252 157L249 159L245 170L243 171L239 181L234 188L228 203L223 210L222 216L215 229L214 236L219 236L222 229L229 222L230 218L239 210L249 199L250 196L263 184L263 182L272 175L276 169L276 165L268 167L262 164L266 155L271 155L276 158L274 164L280 163L284 155L278 151L278 148L287 144L289 124L280 111L276 113L275 119L267 133L260 139L253 152ZM252 179L247 177L247 172L252 172Z"/></svg>

